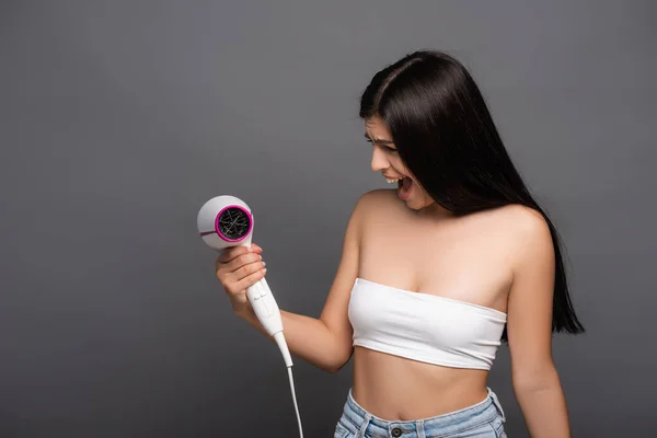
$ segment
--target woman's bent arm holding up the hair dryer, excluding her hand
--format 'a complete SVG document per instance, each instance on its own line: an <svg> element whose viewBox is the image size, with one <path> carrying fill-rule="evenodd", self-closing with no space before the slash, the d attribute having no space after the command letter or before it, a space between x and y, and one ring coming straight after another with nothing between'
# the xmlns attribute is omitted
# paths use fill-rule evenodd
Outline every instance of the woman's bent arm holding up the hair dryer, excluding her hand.
<svg viewBox="0 0 657 438"><path fill-rule="evenodd" d="M342 258L319 319L280 310L285 338L290 354L328 372L338 371L353 354L351 324L347 315L349 296L358 276L360 222L365 194L354 208L343 241ZM253 327L267 334L253 309L239 313Z"/></svg>

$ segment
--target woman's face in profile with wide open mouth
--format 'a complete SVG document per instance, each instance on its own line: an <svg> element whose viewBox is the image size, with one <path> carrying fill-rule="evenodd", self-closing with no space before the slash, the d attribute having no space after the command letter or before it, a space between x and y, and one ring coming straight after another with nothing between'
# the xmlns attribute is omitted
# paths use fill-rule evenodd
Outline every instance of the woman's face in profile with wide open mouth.
<svg viewBox="0 0 657 438"><path fill-rule="evenodd" d="M365 136L374 147L372 171L381 172L387 180L397 185L397 196L408 208L419 210L435 203L402 162L392 136L380 117L365 120Z"/></svg>

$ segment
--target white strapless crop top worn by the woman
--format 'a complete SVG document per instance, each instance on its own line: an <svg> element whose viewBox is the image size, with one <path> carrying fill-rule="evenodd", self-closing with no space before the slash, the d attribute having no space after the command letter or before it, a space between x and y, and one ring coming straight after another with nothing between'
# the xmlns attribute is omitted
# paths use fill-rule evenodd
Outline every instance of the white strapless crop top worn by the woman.
<svg viewBox="0 0 657 438"><path fill-rule="evenodd" d="M507 314L357 278L349 299L354 346L423 362L488 370Z"/></svg>

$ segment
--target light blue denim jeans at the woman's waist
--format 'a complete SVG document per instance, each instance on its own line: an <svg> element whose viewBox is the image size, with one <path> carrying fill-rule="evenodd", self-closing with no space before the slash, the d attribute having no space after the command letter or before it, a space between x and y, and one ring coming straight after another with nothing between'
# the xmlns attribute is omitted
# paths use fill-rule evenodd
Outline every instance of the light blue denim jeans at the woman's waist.
<svg viewBox="0 0 657 438"><path fill-rule="evenodd" d="M364 410L351 395L335 426L334 438L506 438L506 417L497 395L488 388L477 404L449 414L406 422L378 418Z"/></svg>

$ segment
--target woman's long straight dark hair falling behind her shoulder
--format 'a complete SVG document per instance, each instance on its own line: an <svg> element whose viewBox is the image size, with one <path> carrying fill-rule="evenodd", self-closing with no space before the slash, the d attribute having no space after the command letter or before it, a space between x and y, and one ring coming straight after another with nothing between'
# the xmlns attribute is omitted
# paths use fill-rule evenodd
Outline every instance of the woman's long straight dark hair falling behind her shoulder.
<svg viewBox="0 0 657 438"><path fill-rule="evenodd" d="M362 93L360 117L372 116L385 123L425 191L454 215L520 204L543 216L556 257L552 331L584 333L568 293L561 238L514 166L465 67L436 50L405 56L374 74Z"/></svg>

